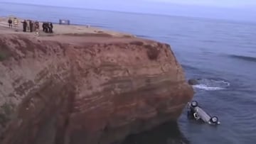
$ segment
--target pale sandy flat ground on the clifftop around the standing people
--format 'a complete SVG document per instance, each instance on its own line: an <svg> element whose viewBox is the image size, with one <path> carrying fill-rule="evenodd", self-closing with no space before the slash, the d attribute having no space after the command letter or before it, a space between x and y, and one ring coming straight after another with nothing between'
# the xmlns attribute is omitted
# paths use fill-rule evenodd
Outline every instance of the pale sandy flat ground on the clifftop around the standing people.
<svg viewBox="0 0 256 144"><path fill-rule="evenodd" d="M9 28L8 26L8 17L0 17L0 33L22 33L26 35L35 35L35 33L22 31L23 19L18 18L18 31L15 31L14 28ZM35 21L35 20L33 20ZM59 25L53 24L53 34L44 33L42 31L42 23L40 23L40 36L52 36L52 35L112 35L114 37L134 37L128 33L118 33L114 31L107 31L101 28L87 27L87 26L75 26L75 25Z"/></svg>

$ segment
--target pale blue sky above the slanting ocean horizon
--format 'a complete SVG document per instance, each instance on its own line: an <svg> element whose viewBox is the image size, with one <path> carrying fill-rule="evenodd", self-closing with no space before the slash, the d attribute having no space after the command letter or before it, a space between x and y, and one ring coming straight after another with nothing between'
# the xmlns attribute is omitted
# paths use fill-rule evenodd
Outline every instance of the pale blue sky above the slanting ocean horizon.
<svg viewBox="0 0 256 144"><path fill-rule="evenodd" d="M256 21L256 0L9 0L7 2Z"/></svg>

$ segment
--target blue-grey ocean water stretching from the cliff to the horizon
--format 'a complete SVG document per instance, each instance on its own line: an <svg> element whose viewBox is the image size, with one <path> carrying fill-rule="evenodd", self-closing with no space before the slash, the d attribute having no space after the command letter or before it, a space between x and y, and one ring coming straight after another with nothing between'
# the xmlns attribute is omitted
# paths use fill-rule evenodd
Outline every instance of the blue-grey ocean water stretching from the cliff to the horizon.
<svg viewBox="0 0 256 144"><path fill-rule="evenodd" d="M188 120L184 109L177 124L130 135L125 144L255 144L256 23L0 3L0 16L9 15L56 23L64 18L171 45L187 79L201 79L193 99L221 125Z"/></svg>

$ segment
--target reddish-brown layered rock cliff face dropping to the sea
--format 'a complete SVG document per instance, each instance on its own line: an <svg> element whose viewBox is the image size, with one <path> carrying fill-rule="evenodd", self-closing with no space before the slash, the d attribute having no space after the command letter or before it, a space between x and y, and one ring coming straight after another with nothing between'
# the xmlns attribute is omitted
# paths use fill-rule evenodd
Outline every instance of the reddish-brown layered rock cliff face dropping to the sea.
<svg viewBox="0 0 256 144"><path fill-rule="evenodd" d="M193 96L169 45L0 35L3 144L107 144L176 121Z"/></svg>

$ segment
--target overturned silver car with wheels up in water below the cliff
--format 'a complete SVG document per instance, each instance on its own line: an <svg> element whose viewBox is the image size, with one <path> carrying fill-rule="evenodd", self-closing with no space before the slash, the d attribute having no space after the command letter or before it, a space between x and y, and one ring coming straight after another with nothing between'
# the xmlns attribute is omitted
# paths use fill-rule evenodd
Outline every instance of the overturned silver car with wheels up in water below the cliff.
<svg viewBox="0 0 256 144"><path fill-rule="evenodd" d="M203 111L203 109L198 106L197 101L188 102L188 116L196 119L197 121L204 121L210 125L219 125L220 121L217 116L210 116L210 114Z"/></svg>

